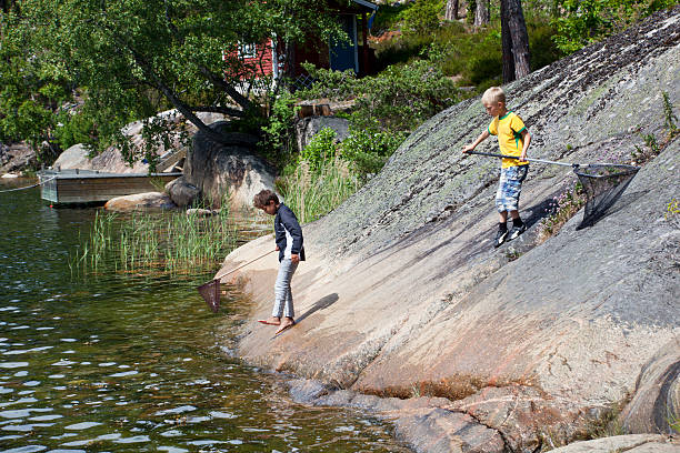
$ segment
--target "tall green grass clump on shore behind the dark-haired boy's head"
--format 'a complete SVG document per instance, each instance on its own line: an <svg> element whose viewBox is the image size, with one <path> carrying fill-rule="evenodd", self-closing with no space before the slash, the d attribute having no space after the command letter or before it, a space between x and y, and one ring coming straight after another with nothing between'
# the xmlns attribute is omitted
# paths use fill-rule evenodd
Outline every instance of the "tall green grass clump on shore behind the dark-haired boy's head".
<svg viewBox="0 0 680 453"><path fill-rule="evenodd" d="M357 175L339 157L322 161L314 171L306 161L277 180L277 188L301 223L312 222L340 205L360 188Z"/></svg>

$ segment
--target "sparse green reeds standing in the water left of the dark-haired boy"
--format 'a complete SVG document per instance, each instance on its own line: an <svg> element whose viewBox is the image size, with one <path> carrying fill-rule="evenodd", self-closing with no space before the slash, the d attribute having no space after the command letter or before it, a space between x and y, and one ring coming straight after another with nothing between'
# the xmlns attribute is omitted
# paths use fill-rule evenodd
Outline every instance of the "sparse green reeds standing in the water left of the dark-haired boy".
<svg viewBox="0 0 680 453"><path fill-rule="evenodd" d="M226 204L223 204L226 205ZM103 263L119 272L189 273L213 269L237 245L229 210L131 215L98 212L89 238L70 260L72 273L99 272Z"/></svg>

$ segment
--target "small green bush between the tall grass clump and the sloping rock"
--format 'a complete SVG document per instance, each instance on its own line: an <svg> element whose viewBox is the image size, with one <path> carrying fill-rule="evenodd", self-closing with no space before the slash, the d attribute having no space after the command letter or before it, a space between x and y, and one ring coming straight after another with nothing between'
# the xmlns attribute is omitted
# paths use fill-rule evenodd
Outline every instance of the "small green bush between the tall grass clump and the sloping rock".
<svg viewBox="0 0 680 453"><path fill-rule="evenodd" d="M340 144L340 153L350 162L351 170L364 181L368 175L378 173L388 158L406 140L404 133L353 129Z"/></svg>

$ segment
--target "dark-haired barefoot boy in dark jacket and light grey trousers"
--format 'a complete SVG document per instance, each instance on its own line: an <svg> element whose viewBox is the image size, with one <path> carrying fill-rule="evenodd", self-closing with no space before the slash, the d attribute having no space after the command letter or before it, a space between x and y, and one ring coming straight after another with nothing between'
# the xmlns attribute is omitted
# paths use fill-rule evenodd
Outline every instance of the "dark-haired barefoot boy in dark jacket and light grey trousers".
<svg viewBox="0 0 680 453"><path fill-rule="evenodd" d="M274 217L276 243L279 251L279 274L274 284L274 305L271 318L258 320L262 324L278 325L277 333L294 325L294 310L290 282L300 261L304 261L302 228L296 214L271 190L262 190L254 195L253 204Z"/></svg>

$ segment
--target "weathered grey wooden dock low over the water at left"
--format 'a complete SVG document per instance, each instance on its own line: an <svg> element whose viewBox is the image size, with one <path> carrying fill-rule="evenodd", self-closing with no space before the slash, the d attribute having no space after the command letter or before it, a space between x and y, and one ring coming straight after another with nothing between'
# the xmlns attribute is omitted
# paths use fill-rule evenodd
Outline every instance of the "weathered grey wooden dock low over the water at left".
<svg viewBox="0 0 680 453"><path fill-rule="evenodd" d="M52 204L101 204L116 197L160 192L173 173L104 173L96 170L43 170L40 197Z"/></svg>

